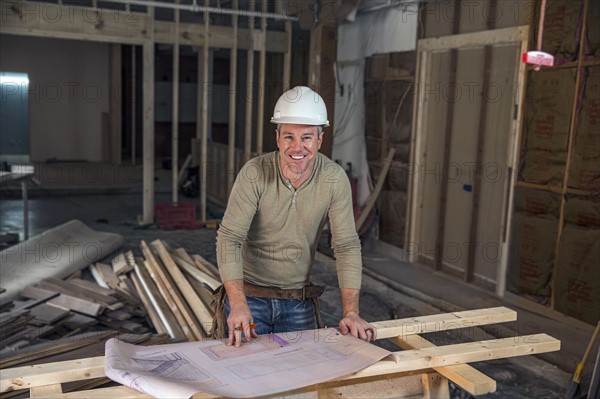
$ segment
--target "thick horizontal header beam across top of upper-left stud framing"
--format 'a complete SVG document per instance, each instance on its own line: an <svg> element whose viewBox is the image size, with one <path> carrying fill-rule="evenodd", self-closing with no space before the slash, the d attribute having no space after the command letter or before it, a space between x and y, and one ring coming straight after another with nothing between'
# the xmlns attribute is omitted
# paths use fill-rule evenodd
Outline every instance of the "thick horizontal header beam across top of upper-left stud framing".
<svg viewBox="0 0 600 399"><path fill-rule="evenodd" d="M53 7L53 10L44 11L48 7ZM148 7L148 10L148 14L104 8L91 11L89 7L72 4L7 2L2 9L0 33L104 43L142 45L153 41L174 44L175 24L170 21L154 21L152 7ZM57 17L40 17L45 14ZM179 44L204 46L208 37L204 33L201 24L181 23L177 35ZM251 34L248 29L239 29L234 36L232 27L214 26L208 40L215 48L232 48L237 43L238 48L248 50L253 45ZM267 51L283 53L286 51L286 42L285 32L269 31L265 34Z"/></svg>

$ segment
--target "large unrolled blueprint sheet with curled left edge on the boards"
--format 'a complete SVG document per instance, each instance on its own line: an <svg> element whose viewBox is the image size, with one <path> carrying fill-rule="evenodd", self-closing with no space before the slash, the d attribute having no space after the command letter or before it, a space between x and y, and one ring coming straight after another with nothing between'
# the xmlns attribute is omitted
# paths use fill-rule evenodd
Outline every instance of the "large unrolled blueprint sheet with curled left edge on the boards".
<svg viewBox="0 0 600 399"><path fill-rule="evenodd" d="M239 348L226 340L137 346L111 339L105 372L156 398L248 398L343 377L389 354L333 328L262 335Z"/></svg>

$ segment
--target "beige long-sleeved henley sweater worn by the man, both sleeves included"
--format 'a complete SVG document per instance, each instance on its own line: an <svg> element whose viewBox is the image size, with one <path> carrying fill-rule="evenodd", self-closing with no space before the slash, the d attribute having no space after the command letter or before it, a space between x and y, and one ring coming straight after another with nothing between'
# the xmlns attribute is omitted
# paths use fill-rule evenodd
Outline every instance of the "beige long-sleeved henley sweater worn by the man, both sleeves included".
<svg viewBox="0 0 600 399"><path fill-rule="evenodd" d="M360 289L360 241L342 167L319 153L311 176L296 190L281 173L278 152L251 159L238 174L217 233L222 280L280 288L308 284L327 216L340 288Z"/></svg>

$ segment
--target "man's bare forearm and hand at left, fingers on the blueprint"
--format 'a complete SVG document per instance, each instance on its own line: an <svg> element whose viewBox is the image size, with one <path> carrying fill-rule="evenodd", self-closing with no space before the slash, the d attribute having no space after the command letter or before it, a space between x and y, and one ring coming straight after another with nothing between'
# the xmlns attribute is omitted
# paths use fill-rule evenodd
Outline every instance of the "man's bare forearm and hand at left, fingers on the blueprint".
<svg viewBox="0 0 600 399"><path fill-rule="evenodd" d="M244 282L242 280L231 280L223 283L229 299L229 316L227 317L227 327L229 328L229 338L227 345L239 347L242 344L242 334L246 337L246 342L251 338L257 338L258 334L250 327L253 324L252 312L246 302L244 292Z"/></svg>

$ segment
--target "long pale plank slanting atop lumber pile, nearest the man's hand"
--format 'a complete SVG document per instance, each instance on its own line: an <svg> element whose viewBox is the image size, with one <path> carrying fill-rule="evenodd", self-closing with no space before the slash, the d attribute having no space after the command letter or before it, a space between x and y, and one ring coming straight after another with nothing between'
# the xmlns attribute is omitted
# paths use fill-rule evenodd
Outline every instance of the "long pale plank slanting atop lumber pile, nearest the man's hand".
<svg viewBox="0 0 600 399"><path fill-rule="evenodd" d="M177 267L175 261L173 261L169 255L169 251L167 251L163 243L160 240L155 240L152 242L152 246L158 252L158 255L165 265L165 268L171 275L171 278L177 285L177 288L179 288L181 291L181 294L187 301L192 312L200 321L201 328L204 329L204 332L198 329L198 331L202 334L202 336L198 337L198 339L206 338L208 335L207 332L212 330L212 315L204 306L204 303L202 303L190 283L186 280L181 270L179 270L179 267Z"/></svg>

